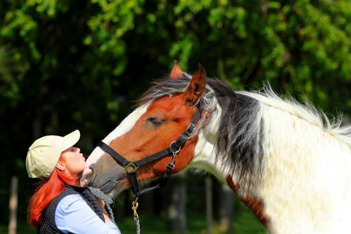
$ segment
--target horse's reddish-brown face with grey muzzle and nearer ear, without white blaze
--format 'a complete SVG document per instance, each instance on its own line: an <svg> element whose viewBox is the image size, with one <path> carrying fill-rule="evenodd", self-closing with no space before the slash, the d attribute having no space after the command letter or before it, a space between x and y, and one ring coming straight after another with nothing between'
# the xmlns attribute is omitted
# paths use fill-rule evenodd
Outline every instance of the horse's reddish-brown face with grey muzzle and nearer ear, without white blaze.
<svg viewBox="0 0 351 234"><path fill-rule="evenodd" d="M179 66L176 64L175 69ZM180 68L179 68L180 69ZM177 78L172 76L171 78ZM180 71L177 71L181 75ZM187 129L197 111L194 103L202 97L206 86L206 74L200 66L193 75L187 89L176 96L165 96L150 103L146 108L140 107L138 118L130 118L132 127L124 134L111 138L109 146L128 161L137 161L168 148ZM128 124L129 116L121 123ZM118 127L117 127L118 128ZM192 160L198 137L188 140L179 152L175 161L174 173L184 169ZM172 155L150 162L136 171L139 182L156 178L163 174ZM105 193L112 190L121 191L131 182L125 169L107 153L90 165L92 173L87 184L99 188Z"/></svg>

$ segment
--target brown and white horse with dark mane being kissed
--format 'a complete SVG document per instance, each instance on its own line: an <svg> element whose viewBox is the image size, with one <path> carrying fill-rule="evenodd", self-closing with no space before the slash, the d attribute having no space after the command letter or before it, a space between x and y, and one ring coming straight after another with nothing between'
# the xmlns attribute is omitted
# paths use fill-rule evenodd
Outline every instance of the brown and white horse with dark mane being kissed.
<svg viewBox="0 0 351 234"><path fill-rule="evenodd" d="M203 109L182 145L174 173L205 170L227 183L270 233L346 233L351 210L351 127L329 121L309 102L263 91L233 91L191 76L178 63L149 88L141 104L103 142L137 161L169 147ZM169 154L141 166L148 183L164 172ZM131 186L125 168L100 147L86 161L82 184L113 197Z"/></svg>

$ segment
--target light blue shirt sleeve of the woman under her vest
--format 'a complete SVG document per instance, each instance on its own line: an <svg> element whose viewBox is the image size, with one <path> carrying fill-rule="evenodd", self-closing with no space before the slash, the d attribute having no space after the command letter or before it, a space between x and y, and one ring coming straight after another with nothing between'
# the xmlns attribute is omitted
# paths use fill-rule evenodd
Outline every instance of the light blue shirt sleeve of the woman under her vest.
<svg viewBox="0 0 351 234"><path fill-rule="evenodd" d="M112 221L103 222L78 194L62 198L55 211L55 223L63 233L121 234Z"/></svg>

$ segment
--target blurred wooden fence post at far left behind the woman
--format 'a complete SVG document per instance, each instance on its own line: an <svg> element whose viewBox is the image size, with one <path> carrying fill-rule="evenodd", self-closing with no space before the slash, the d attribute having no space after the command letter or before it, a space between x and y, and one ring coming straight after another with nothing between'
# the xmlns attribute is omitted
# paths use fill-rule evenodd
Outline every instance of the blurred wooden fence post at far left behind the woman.
<svg viewBox="0 0 351 234"><path fill-rule="evenodd" d="M10 191L10 222L9 234L16 234L17 230L17 205L18 205L18 177L11 178L11 191Z"/></svg>

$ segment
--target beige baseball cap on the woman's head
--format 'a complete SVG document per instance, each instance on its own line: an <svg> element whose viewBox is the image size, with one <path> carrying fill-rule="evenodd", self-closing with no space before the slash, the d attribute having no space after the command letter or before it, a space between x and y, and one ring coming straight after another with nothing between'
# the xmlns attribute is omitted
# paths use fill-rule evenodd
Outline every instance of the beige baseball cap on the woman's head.
<svg viewBox="0 0 351 234"><path fill-rule="evenodd" d="M78 142L79 130L62 136L43 136L36 140L28 149L26 167L28 176L32 178L48 178L62 151L68 149Z"/></svg>

